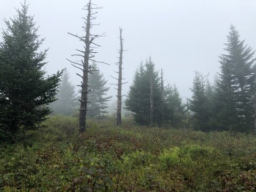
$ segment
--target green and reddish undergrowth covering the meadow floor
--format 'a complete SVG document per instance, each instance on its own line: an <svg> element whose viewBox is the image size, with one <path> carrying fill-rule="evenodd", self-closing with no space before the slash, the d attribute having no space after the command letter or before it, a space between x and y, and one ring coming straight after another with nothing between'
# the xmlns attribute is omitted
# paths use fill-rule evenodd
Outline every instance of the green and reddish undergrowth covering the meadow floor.
<svg viewBox="0 0 256 192"><path fill-rule="evenodd" d="M52 116L0 148L1 191L255 191L251 134Z"/></svg>

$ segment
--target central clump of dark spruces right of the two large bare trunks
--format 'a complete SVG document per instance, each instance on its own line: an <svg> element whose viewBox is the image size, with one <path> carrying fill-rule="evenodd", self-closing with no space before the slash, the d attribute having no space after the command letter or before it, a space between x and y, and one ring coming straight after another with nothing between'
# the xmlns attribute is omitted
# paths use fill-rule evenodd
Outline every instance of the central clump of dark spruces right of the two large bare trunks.
<svg viewBox="0 0 256 192"><path fill-rule="evenodd" d="M163 72L159 77L154 62L141 62L125 100L136 122L143 125L181 125L185 121L185 106L177 86L165 86Z"/></svg>

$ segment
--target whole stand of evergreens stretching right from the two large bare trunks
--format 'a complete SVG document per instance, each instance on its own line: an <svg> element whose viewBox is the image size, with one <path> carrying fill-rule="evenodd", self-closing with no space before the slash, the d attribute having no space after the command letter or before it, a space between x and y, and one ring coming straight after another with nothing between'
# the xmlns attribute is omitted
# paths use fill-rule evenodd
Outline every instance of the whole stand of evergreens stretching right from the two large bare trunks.
<svg viewBox="0 0 256 192"><path fill-rule="evenodd" d="M219 57L218 78L211 84L209 74L196 71L190 88L192 97L185 103L182 103L177 87L172 89L170 85L163 85L163 73L155 69L151 58L141 63L125 101L127 109L133 111L135 121L145 125L169 123L178 127L187 122L187 127L201 131L254 132L254 51L239 39L238 30L233 25L225 46L225 53Z"/></svg>

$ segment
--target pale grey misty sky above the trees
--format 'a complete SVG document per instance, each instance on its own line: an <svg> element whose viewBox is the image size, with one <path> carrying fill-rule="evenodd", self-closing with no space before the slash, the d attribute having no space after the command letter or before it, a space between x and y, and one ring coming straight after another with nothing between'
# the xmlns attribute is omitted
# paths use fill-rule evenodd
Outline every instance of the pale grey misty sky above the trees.
<svg viewBox="0 0 256 192"><path fill-rule="evenodd" d="M14 7L20 9L21 0L0 0L0 28L6 29L3 19L16 14ZM45 37L43 48L48 48L46 70L55 73L67 67L71 81L80 84L80 72L65 59L76 60L70 54L77 53L82 44L67 33L83 34L81 26L86 16L82 10L87 1L82 0L44 0L30 3L29 14L39 26L38 34ZM118 61L119 26L123 28L125 39L124 77L128 84L123 92L129 90L134 71L141 60L151 56L157 69L164 69L164 76L170 84L177 84L183 99L191 96L194 71L210 73L210 80L219 71L218 56L223 51L223 43L232 23L239 30L241 39L246 39L253 50L256 49L256 1L255 0L95 0L94 4L103 6L98 10L101 23L92 29L93 34L106 32L106 37L97 39L101 47L95 59L105 61L110 66L99 65L100 70L115 83L110 75L116 75L115 63ZM0 37L2 41L2 36ZM115 95L113 86L109 92Z"/></svg>

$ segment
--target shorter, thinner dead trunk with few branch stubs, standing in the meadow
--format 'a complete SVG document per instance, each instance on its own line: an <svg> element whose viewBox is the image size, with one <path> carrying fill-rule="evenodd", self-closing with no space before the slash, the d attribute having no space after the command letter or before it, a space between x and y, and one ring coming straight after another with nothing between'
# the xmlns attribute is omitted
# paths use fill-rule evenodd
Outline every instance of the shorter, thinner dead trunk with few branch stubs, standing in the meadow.
<svg viewBox="0 0 256 192"><path fill-rule="evenodd" d="M127 83L122 83L122 80L124 80L125 78L122 78L123 76L123 52L124 52L124 47L123 47L123 42L124 39L122 37L122 31L123 29L121 27L119 27L119 39L120 39L120 49L119 49L119 62L117 63L118 66L118 71L115 71L118 74L118 78L115 78L113 76L111 76L112 78L116 79L118 81L117 84L117 88L115 88L117 90L117 108L116 108L116 125L120 125L122 122L122 85Z"/></svg>

